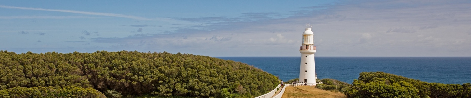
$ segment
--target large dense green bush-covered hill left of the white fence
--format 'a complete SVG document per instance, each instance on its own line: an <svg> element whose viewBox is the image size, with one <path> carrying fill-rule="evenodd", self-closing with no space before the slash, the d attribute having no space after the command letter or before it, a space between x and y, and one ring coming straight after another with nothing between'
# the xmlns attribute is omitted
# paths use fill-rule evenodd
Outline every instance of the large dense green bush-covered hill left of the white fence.
<svg viewBox="0 0 471 98"><path fill-rule="evenodd" d="M193 54L0 51L0 97L5 98L253 98L278 83L253 66Z"/></svg>

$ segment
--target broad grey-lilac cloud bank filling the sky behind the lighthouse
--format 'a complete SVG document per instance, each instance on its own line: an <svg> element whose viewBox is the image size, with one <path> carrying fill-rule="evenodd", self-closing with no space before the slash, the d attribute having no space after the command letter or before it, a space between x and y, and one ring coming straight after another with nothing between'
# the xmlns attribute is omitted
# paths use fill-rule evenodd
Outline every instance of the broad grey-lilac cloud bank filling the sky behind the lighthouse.
<svg viewBox="0 0 471 98"><path fill-rule="evenodd" d="M178 23L182 25L174 28L177 30L158 34L88 40L105 47L91 49L95 51L299 56L296 48L300 46L305 23L313 22L317 56L469 56L469 4L466 1L428 0L346 1L325 7L302 8L292 11L293 14L279 16L281 18L269 13L246 13L239 17L174 18L201 23ZM152 32L150 29L147 31ZM86 39L83 36L81 38Z"/></svg>

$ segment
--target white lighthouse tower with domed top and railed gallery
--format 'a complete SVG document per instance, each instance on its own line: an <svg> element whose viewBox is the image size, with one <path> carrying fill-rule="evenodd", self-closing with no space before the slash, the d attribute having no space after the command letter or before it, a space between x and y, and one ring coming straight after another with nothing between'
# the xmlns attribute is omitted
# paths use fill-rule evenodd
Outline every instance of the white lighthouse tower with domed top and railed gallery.
<svg viewBox="0 0 471 98"><path fill-rule="evenodd" d="M312 27L311 27L312 28ZM302 44L299 48L301 53L301 65L299 70L299 81L304 83L313 83L316 85L316 66L314 63L314 53L316 53L316 46L314 46L314 33L311 28L306 28L302 33Z"/></svg>

